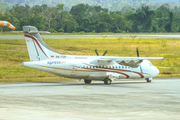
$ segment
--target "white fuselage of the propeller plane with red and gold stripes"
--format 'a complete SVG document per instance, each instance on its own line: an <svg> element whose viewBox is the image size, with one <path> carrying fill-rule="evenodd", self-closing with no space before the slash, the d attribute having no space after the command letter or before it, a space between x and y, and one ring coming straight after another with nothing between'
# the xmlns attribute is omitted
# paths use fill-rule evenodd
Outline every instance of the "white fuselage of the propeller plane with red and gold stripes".
<svg viewBox="0 0 180 120"><path fill-rule="evenodd" d="M100 81L107 77L112 80L152 78L159 74L159 70L148 60L144 60L137 68L123 66L118 63L109 65L90 63L97 57L85 56L85 59L67 57L65 59L23 62L22 65L62 77Z"/></svg>

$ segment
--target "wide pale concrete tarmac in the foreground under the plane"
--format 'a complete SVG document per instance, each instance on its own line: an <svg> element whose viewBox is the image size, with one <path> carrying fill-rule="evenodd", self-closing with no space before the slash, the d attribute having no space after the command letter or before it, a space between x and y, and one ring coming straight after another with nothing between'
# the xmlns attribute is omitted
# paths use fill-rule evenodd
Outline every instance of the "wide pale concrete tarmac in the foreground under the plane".
<svg viewBox="0 0 180 120"><path fill-rule="evenodd" d="M180 80L0 84L0 120L179 120Z"/></svg>

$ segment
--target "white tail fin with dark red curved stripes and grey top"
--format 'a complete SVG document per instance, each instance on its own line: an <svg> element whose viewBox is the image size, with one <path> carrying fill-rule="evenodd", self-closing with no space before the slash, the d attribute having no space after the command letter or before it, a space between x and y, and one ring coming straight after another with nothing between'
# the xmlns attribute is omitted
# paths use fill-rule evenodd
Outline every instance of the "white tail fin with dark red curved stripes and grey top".
<svg viewBox="0 0 180 120"><path fill-rule="evenodd" d="M23 26L23 32L31 61L55 59L60 54L54 52L41 38L39 31L33 26Z"/></svg>

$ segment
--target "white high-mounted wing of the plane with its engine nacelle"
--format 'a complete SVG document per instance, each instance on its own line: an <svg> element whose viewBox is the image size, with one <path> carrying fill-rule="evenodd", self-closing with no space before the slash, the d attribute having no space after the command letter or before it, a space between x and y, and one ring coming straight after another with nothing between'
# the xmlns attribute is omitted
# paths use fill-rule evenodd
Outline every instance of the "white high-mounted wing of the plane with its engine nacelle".
<svg viewBox="0 0 180 120"><path fill-rule="evenodd" d="M112 58L99 58L91 61L91 64L96 65L113 65L118 63L120 65L130 66L137 68L143 60L164 59L163 57L112 57Z"/></svg>

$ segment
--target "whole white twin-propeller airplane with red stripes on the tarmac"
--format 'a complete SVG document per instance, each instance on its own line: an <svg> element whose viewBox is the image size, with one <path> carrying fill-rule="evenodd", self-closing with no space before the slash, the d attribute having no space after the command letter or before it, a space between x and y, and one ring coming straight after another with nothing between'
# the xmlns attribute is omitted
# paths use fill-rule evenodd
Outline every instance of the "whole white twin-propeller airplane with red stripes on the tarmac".
<svg viewBox="0 0 180 120"><path fill-rule="evenodd" d="M148 60L163 59L139 57L138 49L138 57L61 55L42 40L36 27L24 26L23 32L31 60L23 62L23 66L62 77L84 79L86 84L95 80L110 85L119 79L145 79L151 82L159 70Z"/></svg>

